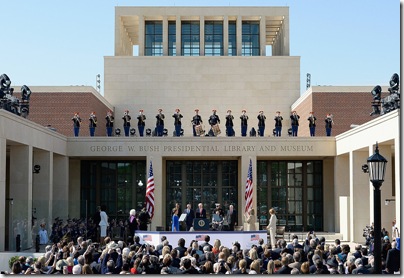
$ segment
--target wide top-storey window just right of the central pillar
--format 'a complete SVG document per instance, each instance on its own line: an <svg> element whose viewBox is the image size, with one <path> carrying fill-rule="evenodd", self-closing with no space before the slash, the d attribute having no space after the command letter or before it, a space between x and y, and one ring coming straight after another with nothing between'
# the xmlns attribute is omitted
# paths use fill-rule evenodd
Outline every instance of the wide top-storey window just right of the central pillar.
<svg viewBox="0 0 404 278"><path fill-rule="evenodd" d="M223 22L205 22L205 56L223 56Z"/></svg>

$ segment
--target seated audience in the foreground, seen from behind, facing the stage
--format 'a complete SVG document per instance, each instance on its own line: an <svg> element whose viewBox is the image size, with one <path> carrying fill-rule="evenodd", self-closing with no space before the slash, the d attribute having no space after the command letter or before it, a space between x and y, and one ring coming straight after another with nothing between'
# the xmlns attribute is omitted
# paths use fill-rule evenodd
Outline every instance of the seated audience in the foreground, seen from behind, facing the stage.
<svg viewBox="0 0 404 278"><path fill-rule="evenodd" d="M400 272L400 240L384 239L383 273ZM374 257L369 249L357 244L351 250L339 239L326 243L324 237L308 233L299 241L279 239L275 246L260 239L251 248L235 241L223 246L213 242L170 243L165 236L157 246L142 244L138 236L132 243L105 237L104 244L78 237L64 238L45 247L37 259L21 256L10 274L372 274Z"/></svg>

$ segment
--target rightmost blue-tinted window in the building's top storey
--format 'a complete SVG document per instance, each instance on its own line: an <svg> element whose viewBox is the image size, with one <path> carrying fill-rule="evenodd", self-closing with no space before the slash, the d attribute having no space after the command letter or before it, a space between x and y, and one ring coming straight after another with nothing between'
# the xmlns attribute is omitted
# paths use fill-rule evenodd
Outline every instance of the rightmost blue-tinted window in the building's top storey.
<svg viewBox="0 0 404 278"><path fill-rule="evenodd" d="M242 56L260 55L259 21L243 21L242 24Z"/></svg>

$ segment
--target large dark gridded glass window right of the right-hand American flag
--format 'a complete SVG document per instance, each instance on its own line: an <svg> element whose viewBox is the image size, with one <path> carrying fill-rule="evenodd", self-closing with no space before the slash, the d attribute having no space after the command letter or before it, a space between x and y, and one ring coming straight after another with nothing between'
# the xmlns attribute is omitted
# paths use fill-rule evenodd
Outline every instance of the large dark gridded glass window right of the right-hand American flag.
<svg viewBox="0 0 404 278"><path fill-rule="evenodd" d="M258 161L257 179L260 225L273 207L288 231L323 229L322 161Z"/></svg>

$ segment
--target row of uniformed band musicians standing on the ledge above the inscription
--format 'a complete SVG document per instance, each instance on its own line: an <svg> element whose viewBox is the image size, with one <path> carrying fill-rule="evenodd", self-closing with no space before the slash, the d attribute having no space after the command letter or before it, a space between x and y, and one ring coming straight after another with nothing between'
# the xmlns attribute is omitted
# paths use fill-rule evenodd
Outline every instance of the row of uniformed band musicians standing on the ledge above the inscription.
<svg viewBox="0 0 404 278"><path fill-rule="evenodd" d="M174 114L172 115L174 118L174 132L173 136L179 137L183 135L183 128L182 128L182 119L183 115L181 114L181 111L179 108L175 109ZM331 130L332 126L334 124L334 119L333 119L332 114L327 114L324 118L324 124L325 124L325 131L327 136L331 136ZM156 123L155 123L155 128L154 131L149 129L146 131L146 135L149 136L166 136L168 135L167 129L165 128L165 115L163 113L163 109L158 109L158 113L156 115ZM232 115L232 111L229 109L227 110L226 116L226 136L231 137L235 136L235 131L234 131L234 116ZM257 115L257 130L252 127L250 128L249 135L250 136L260 136L263 137L265 134L265 123L266 123L267 117L264 115L264 111L260 110ZM89 130L90 130L90 136L95 135L95 129L97 127L97 116L95 115L95 112L91 112L89 116ZM114 116L113 112L111 110L107 111L107 115L105 117L106 120L106 134L107 136L112 136L112 129L114 127ZM135 135L136 134L136 129L132 127L131 125L131 120L132 117L129 115L129 110L124 111L124 115L122 117L123 120L123 130L125 136L130 136L130 135ZM80 118L80 115L78 112L76 112L72 118L73 121L73 131L74 131L74 136L79 136L80 132L80 127L82 120ZM314 116L314 112L310 112L309 116L307 118L308 121L308 127L310 129L310 136L315 136L316 133L316 125L317 125L317 118ZM274 129L272 130L272 134L275 137L279 137L282 135L282 122L283 122L283 117L281 116L280 111L276 111L276 114L274 116ZM299 124L300 123L300 116L297 114L296 111L292 111L290 113L290 128L288 129L288 134L292 137L296 137L298 135L298 130L299 130ZM205 127L203 126L203 120L202 117L199 115L199 109L195 109L195 115L191 119L191 125L192 125L192 134L193 136L217 136L221 133L220 130L220 118L219 115L217 114L217 110L213 109L212 110L212 115L209 116L208 118L208 124L209 128L208 130L205 130ZM144 110L140 109L139 110L139 115L137 116L137 128L139 132L139 136L143 137L144 136L144 131L145 131L145 126L146 126L146 115L144 114ZM255 124L251 125L255 126ZM249 129L249 117L247 115L247 111L243 109L241 111L240 115L240 134L242 137L247 136L247 132ZM120 129L116 127L115 132L120 135Z"/></svg>

